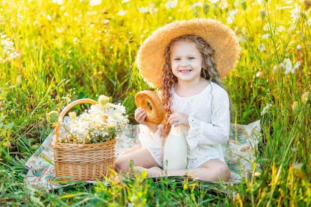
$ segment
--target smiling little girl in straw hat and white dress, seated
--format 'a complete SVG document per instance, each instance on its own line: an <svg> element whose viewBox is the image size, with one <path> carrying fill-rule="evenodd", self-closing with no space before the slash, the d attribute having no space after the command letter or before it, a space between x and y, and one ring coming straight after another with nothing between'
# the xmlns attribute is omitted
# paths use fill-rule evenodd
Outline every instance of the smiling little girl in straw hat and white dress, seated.
<svg viewBox="0 0 311 207"><path fill-rule="evenodd" d="M239 45L234 32L211 19L174 21L157 29L141 46L137 65L155 87L166 117L155 126L138 108L140 144L125 150L115 162L117 172L147 170L149 176L182 176L228 181L230 170L222 143L229 139L230 99L221 77L233 69ZM188 144L186 170L164 172L163 145L171 126L182 126Z"/></svg>

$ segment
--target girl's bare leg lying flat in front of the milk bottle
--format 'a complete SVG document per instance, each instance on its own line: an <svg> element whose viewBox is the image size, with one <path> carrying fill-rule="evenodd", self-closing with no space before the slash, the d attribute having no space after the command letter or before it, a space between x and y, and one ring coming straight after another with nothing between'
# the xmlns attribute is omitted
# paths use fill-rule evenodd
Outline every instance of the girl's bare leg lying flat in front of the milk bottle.
<svg viewBox="0 0 311 207"><path fill-rule="evenodd" d="M203 163L200 167L186 170L161 170L158 167L146 169L143 167L135 167L137 171L147 170L149 176L183 176L190 175L192 178L199 178L209 181L228 181L230 179L230 170L228 166L218 159L211 159Z"/></svg>

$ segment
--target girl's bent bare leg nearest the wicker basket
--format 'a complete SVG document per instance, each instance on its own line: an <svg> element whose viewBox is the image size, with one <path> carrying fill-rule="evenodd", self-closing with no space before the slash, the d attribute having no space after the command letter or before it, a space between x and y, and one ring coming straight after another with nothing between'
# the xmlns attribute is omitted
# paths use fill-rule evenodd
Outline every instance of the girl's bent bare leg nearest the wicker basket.
<svg viewBox="0 0 311 207"><path fill-rule="evenodd" d="M155 159L148 149L139 144L124 151L117 158L114 164L115 171L118 173L128 172L130 170L130 160L133 160L133 167L141 166L144 168L151 168L157 166Z"/></svg>

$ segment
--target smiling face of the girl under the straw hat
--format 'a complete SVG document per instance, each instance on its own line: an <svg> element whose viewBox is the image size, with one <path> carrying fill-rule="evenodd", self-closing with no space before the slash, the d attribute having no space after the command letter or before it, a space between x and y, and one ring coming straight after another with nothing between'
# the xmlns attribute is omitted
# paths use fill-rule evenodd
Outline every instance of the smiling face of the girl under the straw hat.
<svg viewBox="0 0 311 207"><path fill-rule="evenodd" d="M178 81L191 82L200 79L202 55L192 41L182 40L174 43L170 62L172 72Z"/></svg>

